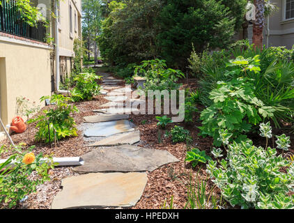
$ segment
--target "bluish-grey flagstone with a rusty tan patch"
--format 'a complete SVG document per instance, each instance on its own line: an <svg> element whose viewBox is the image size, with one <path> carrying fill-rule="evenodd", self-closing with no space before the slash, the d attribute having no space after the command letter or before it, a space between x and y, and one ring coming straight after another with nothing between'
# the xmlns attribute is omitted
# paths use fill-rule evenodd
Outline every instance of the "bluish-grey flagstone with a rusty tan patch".
<svg viewBox="0 0 294 223"><path fill-rule="evenodd" d="M111 134L134 131L129 121L107 121L103 123L93 123L93 127L84 131L85 137L109 137Z"/></svg>

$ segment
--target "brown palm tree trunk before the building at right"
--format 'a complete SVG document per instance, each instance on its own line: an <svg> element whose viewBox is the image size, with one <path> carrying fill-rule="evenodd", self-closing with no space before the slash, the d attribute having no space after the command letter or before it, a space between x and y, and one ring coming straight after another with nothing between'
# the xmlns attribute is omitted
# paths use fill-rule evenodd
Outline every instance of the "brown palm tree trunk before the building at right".
<svg viewBox="0 0 294 223"><path fill-rule="evenodd" d="M256 20L253 22L252 41L254 49L263 49L263 28L265 26L265 0L254 0Z"/></svg>

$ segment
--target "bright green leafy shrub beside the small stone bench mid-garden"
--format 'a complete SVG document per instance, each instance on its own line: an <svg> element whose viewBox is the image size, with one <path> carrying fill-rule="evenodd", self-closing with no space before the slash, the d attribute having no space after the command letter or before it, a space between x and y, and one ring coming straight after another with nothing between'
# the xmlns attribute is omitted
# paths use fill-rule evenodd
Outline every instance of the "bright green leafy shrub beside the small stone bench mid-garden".
<svg viewBox="0 0 294 223"><path fill-rule="evenodd" d="M146 77L145 91L179 89L180 84L176 82L178 78L185 77L180 70L167 69L165 61L160 59L142 61L140 66L135 66L134 68L136 76Z"/></svg>

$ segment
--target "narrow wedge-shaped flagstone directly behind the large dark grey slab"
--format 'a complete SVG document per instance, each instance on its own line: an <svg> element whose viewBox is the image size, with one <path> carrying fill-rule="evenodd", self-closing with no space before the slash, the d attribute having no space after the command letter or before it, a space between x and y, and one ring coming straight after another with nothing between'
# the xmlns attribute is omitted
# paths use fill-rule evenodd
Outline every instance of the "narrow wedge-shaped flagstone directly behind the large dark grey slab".
<svg viewBox="0 0 294 223"><path fill-rule="evenodd" d="M90 146L120 146L123 144L135 144L140 141L140 132L125 132L121 134L115 134L100 141L96 141Z"/></svg>

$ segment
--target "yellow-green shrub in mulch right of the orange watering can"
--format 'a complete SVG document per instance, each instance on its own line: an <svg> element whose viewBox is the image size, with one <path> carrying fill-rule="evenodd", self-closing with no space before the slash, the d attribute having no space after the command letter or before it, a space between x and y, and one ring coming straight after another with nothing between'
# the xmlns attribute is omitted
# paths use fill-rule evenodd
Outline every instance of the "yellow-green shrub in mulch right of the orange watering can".
<svg viewBox="0 0 294 223"><path fill-rule="evenodd" d="M56 106L49 110L44 110L44 114L29 121L29 123L37 123L36 128L38 128L38 132L36 133L36 140L49 143L49 141L54 141L54 139L76 137L75 119L70 114L78 112L78 109L74 105L68 105L68 102L72 99L63 95L40 98L41 102L46 99L49 99Z"/></svg>

